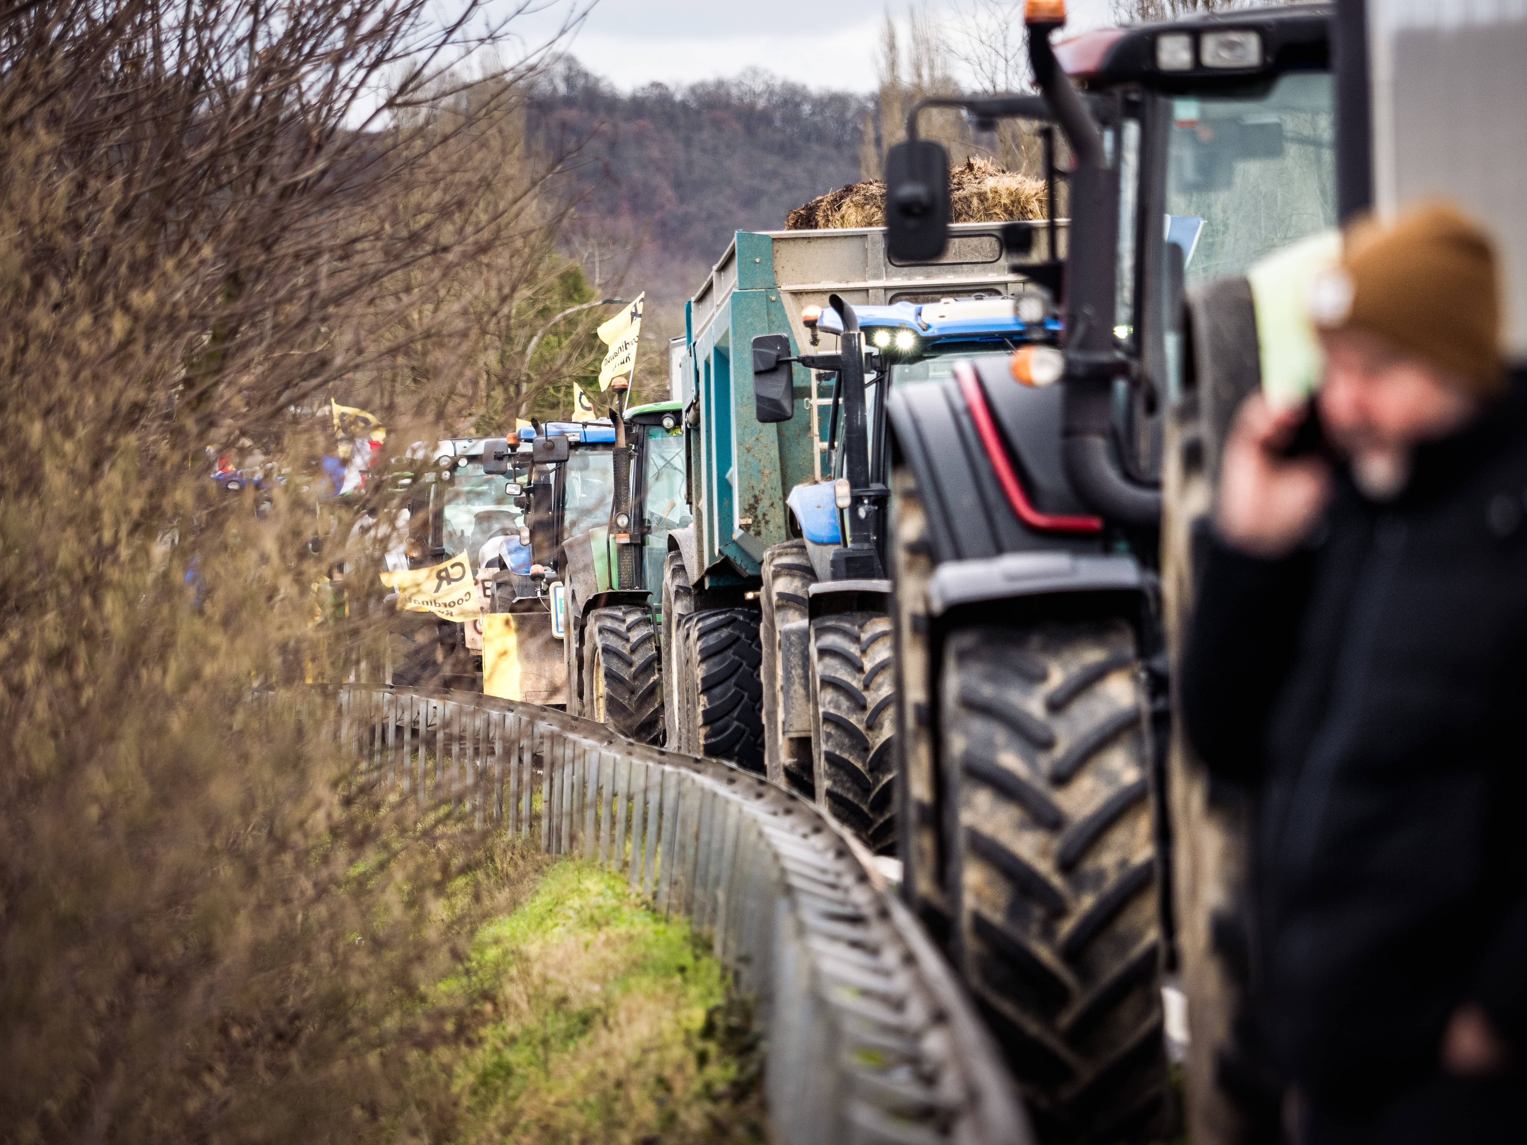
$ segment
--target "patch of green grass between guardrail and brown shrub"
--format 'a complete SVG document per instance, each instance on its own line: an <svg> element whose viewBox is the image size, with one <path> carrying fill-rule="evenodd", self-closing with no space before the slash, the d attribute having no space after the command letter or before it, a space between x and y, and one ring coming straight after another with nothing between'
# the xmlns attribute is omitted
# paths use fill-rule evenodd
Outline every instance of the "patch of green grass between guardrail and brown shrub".
<svg viewBox="0 0 1527 1145"><path fill-rule="evenodd" d="M686 919L615 875L551 867L476 939L495 1021L458 1069L463 1140L764 1140L747 1005Z"/></svg>

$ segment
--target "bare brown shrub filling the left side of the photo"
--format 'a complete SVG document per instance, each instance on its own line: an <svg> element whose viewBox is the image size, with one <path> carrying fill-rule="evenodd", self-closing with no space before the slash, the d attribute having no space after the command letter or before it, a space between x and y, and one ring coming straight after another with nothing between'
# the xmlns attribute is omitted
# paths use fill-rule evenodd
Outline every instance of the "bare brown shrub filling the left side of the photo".
<svg viewBox="0 0 1527 1145"><path fill-rule="evenodd" d="M315 594L312 412L481 408L481 307L560 289L559 157L505 150L504 182L478 145L515 137L539 58L452 82L496 34L457 12L0 9L8 1140L454 1125L420 1053L481 1006L434 983L524 863L347 783L324 693L292 685L365 643ZM258 452L264 489L224 493L208 449Z"/></svg>

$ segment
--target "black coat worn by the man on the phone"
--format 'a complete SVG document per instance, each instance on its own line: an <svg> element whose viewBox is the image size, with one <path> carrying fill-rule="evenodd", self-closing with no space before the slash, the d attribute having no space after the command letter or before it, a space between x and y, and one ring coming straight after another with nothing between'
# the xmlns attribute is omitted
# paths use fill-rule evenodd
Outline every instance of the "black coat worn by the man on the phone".
<svg viewBox="0 0 1527 1145"><path fill-rule="evenodd" d="M1527 397L1420 447L1393 502L1339 476L1289 559L1214 542L1180 689L1199 756L1255 795L1289 1075L1403 1089L1466 1000L1527 1053Z"/></svg>

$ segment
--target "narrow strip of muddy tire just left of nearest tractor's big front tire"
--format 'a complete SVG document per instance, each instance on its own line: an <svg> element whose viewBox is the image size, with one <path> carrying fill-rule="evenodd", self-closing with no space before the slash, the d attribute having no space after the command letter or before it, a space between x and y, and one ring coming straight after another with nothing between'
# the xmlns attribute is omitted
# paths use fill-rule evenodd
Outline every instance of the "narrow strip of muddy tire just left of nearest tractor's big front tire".
<svg viewBox="0 0 1527 1145"><path fill-rule="evenodd" d="M928 521L912 470L890 476L890 565L896 583L896 834L902 898L928 934L948 953L954 908L944 872L944 788L935 765L933 650L928 647L928 582L933 547Z"/></svg>

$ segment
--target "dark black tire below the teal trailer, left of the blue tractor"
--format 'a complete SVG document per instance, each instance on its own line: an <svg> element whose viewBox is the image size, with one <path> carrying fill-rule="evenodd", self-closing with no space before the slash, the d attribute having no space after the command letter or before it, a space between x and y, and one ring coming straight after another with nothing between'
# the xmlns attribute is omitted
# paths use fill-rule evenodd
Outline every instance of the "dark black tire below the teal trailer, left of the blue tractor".
<svg viewBox="0 0 1527 1145"><path fill-rule="evenodd" d="M684 618L676 687L686 692L680 750L764 774L764 649L759 614L718 608Z"/></svg>

